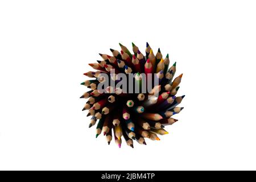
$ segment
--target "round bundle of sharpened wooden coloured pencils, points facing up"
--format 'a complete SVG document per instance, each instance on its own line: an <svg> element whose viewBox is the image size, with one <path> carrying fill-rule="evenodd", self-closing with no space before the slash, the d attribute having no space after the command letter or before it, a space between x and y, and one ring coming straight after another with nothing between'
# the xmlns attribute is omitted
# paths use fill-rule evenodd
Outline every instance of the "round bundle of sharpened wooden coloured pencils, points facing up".
<svg viewBox="0 0 256 182"><path fill-rule="evenodd" d="M96 71L84 73L90 80L82 82L81 85L90 90L80 98L88 99L82 110L88 110L87 116L92 117L89 127L96 125L96 138L102 134L108 144L114 138L118 147L121 147L123 137L127 145L133 148L134 140L144 145L147 138L160 140L159 135L168 134L165 126L177 121L172 116L183 110L183 107L177 105L185 96L176 96L182 74L174 78L176 62L169 67L169 55L164 58L160 49L154 54L148 43L145 55L134 43L133 53L120 43L119 46L120 52L110 48L112 56L100 53L102 60L89 64ZM118 78L118 73L132 73L133 89L137 88L138 92L123 92L122 87L118 88L118 82L122 81ZM142 75L147 76L150 73L155 73L155 76L146 77L143 85ZM104 74L109 76L109 80L102 77ZM102 93L98 85L106 81L109 85ZM111 85L110 81L114 81L115 85ZM143 86L150 81L158 85L143 91Z"/></svg>

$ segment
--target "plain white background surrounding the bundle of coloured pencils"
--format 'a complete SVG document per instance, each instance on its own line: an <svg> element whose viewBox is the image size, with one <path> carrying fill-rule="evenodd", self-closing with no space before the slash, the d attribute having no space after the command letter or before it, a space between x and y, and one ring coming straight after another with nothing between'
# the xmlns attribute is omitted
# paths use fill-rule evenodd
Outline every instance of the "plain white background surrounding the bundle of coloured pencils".
<svg viewBox="0 0 256 182"><path fill-rule="evenodd" d="M1 1L0 169L256 169L255 1ZM146 42L177 61L177 123L135 148L81 111L98 53Z"/></svg>

